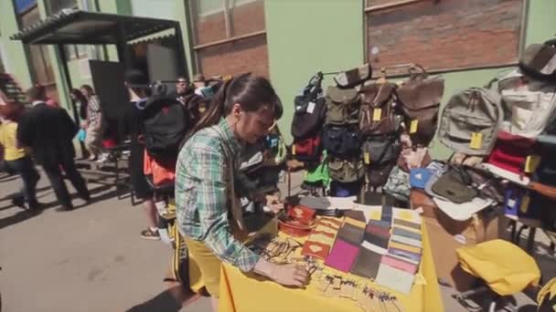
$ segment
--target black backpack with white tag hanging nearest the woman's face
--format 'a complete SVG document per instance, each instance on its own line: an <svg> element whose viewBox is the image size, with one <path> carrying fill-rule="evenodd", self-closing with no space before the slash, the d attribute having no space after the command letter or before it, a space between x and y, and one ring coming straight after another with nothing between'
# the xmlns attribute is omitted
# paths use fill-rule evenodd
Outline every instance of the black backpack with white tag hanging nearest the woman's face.
<svg viewBox="0 0 556 312"><path fill-rule="evenodd" d="M323 98L323 74L318 72L309 79L302 93L294 99L292 136L295 139L315 137L326 118L326 100Z"/></svg>

